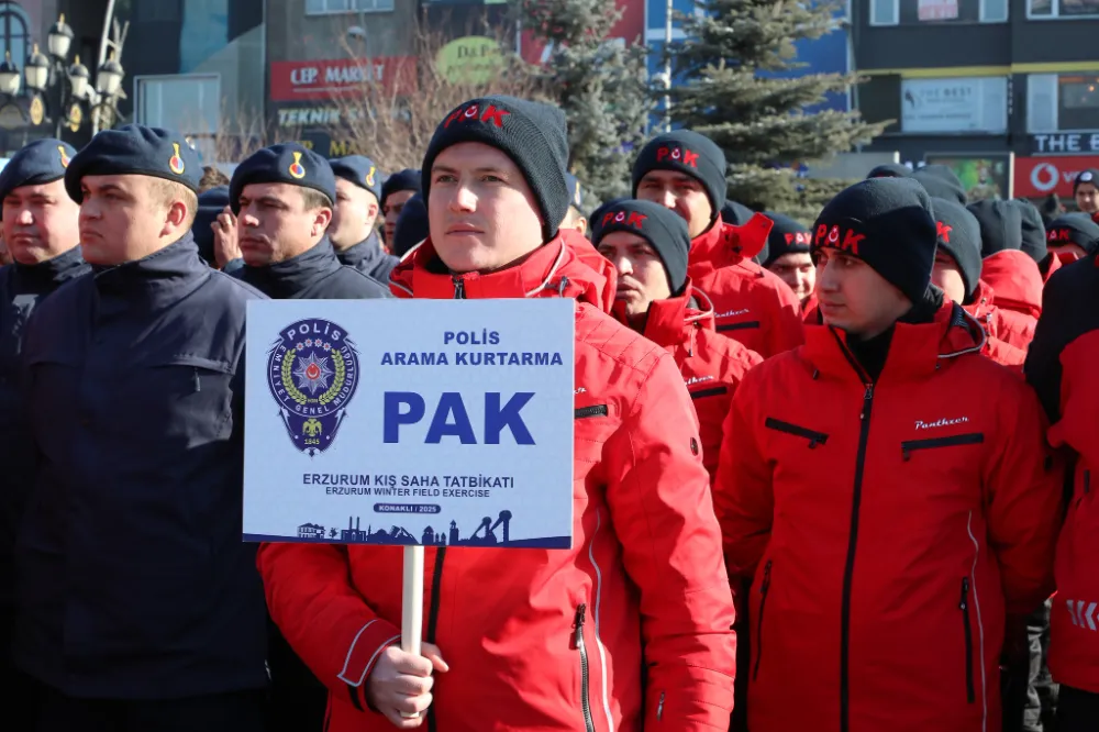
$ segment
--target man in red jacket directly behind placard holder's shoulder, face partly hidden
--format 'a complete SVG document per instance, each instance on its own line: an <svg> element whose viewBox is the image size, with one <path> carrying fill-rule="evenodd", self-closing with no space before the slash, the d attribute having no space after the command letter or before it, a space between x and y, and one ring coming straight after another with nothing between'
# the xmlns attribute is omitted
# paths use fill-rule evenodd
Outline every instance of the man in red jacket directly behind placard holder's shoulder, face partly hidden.
<svg viewBox="0 0 1099 732"><path fill-rule="evenodd" d="M687 224L650 201L624 201L592 222L592 244L618 273L613 314L676 359L702 437L702 463L718 472L721 425L744 374L763 362L713 330L713 306L687 277Z"/></svg>

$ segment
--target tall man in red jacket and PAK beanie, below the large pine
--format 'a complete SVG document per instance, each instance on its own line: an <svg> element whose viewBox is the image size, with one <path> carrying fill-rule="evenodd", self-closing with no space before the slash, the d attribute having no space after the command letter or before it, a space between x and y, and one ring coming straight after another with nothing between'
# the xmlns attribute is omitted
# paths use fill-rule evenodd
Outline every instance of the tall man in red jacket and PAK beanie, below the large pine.
<svg viewBox="0 0 1099 732"><path fill-rule="evenodd" d="M725 154L709 137L668 132L639 154L633 195L687 222L687 274L710 296L718 332L767 358L801 344L801 302L777 275L752 260L767 243L770 220L762 213L743 226L721 220L725 167Z"/></svg>

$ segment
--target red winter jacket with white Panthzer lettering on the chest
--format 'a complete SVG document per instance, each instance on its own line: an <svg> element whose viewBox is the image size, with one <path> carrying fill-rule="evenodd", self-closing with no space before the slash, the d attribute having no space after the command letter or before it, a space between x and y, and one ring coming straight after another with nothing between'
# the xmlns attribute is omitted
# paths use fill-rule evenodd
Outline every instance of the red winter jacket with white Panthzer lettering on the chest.
<svg viewBox="0 0 1099 732"><path fill-rule="evenodd" d="M752 732L992 732L1004 611L1048 596L1061 475L1015 374L946 302L880 378L844 336L745 376L714 506L748 597ZM990 398L995 395L995 398Z"/></svg>

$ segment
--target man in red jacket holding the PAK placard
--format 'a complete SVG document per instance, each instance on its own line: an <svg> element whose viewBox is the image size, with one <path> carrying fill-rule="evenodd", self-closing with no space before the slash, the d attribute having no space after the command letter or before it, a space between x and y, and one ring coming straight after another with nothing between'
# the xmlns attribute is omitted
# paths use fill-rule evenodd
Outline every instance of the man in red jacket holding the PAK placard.
<svg viewBox="0 0 1099 732"><path fill-rule="evenodd" d="M573 548L426 548L420 657L396 645L400 547L263 546L271 617L331 691L329 732L424 710L448 732L728 724L734 612L690 397L670 354L591 304L596 274L557 231L567 156L556 108L447 114L423 162L431 235L390 284L576 300Z"/></svg>

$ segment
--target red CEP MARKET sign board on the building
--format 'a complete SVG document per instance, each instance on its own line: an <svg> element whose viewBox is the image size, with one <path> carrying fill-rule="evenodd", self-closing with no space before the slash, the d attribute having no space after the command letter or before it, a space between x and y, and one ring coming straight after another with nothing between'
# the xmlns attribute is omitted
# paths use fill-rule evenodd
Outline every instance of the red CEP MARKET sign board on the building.
<svg viewBox="0 0 1099 732"><path fill-rule="evenodd" d="M415 56L273 62L271 101L340 99L363 95L368 84L386 91L411 93L417 89Z"/></svg>

